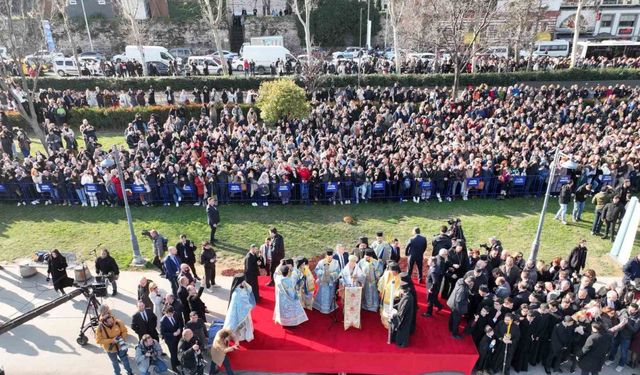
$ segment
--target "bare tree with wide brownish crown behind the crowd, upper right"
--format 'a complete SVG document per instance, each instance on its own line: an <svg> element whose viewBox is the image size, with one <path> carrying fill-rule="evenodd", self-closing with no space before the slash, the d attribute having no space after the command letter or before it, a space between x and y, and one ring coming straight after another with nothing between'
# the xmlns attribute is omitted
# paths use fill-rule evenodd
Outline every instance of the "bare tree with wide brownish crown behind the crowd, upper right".
<svg viewBox="0 0 640 375"><path fill-rule="evenodd" d="M453 66L453 96L458 91L460 72L479 52L479 43L497 13L497 0L424 0L428 37L440 41ZM429 23L427 25L426 23Z"/></svg>

